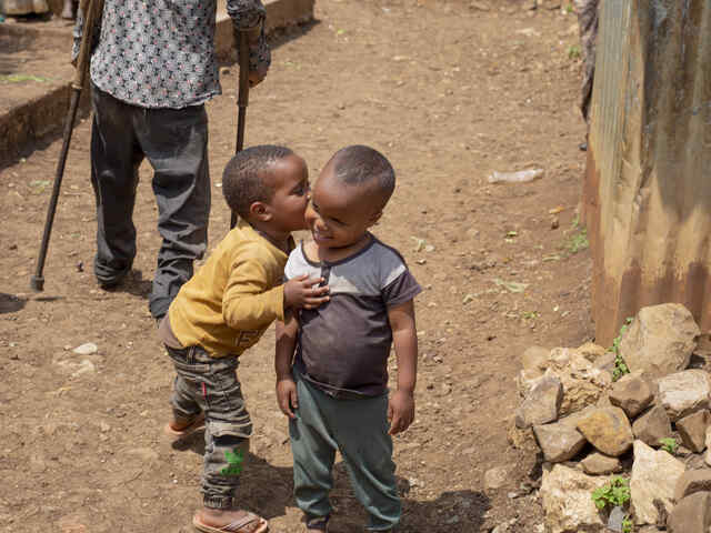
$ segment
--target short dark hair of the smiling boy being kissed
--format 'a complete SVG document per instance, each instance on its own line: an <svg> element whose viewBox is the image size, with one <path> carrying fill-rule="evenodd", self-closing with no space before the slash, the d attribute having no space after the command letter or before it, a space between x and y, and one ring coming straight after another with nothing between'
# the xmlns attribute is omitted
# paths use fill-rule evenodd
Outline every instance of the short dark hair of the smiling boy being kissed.
<svg viewBox="0 0 711 533"><path fill-rule="evenodd" d="M381 194L384 208L395 189L395 171L378 150L362 144L340 149L331 158L333 175L349 185L373 183Z"/></svg>

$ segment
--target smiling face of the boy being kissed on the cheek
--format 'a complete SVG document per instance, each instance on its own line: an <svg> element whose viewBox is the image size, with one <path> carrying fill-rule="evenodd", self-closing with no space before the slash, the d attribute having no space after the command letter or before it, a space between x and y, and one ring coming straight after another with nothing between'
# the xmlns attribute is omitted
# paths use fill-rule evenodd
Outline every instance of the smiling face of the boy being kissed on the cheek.
<svg viewBox="0 0 711 533"><path fill-rule="evenodd" d="M319 248L346 249L360 243L381 215L372 185L349 185L326 165L313 188L306 221Z"/></svg>

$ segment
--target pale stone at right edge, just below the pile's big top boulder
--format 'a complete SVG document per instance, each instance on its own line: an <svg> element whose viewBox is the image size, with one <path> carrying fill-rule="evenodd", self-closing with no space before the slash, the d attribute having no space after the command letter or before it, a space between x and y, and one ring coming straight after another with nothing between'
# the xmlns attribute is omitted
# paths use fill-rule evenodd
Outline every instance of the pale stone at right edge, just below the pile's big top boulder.
<svg viewBox="0 0 711 533"><path fill-rule="evenodd" d="M663 405L672 422L695 411L709 409L711 381L705 370L684 370L661 378L658 403Z"/></svg>

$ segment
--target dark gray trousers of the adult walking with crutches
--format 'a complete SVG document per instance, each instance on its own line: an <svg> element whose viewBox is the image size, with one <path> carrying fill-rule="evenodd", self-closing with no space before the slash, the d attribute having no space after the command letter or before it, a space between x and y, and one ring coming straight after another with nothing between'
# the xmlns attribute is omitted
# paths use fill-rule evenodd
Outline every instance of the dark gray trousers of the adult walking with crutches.
<svg viewBox="0 0 711 533"><path fill-rule="evenodd" d="M158 231L163 239L149 309L160 318L207 248L210 175L204 105L146 109L96 86L91 98L91 184L98 225L94 273L99 283L110 286L131 270L138 168L147 158L154 171Z"/></svg>

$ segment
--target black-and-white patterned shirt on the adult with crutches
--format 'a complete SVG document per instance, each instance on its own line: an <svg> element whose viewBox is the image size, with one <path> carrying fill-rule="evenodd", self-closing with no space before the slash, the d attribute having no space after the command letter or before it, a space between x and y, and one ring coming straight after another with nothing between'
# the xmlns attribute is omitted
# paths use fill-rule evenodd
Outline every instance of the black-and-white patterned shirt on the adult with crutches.
<svg viewBox="0 0 711 533"><path fill-rule="evenodd" d="M269 68L260 0L228 0L234 29L262 26L250 49L250 70ZM102 91L143 108L181 109L221 92L214 58L217 0L104 0L94 29L91 81ZM83 30L81 10L72 57Z"/></svg>

